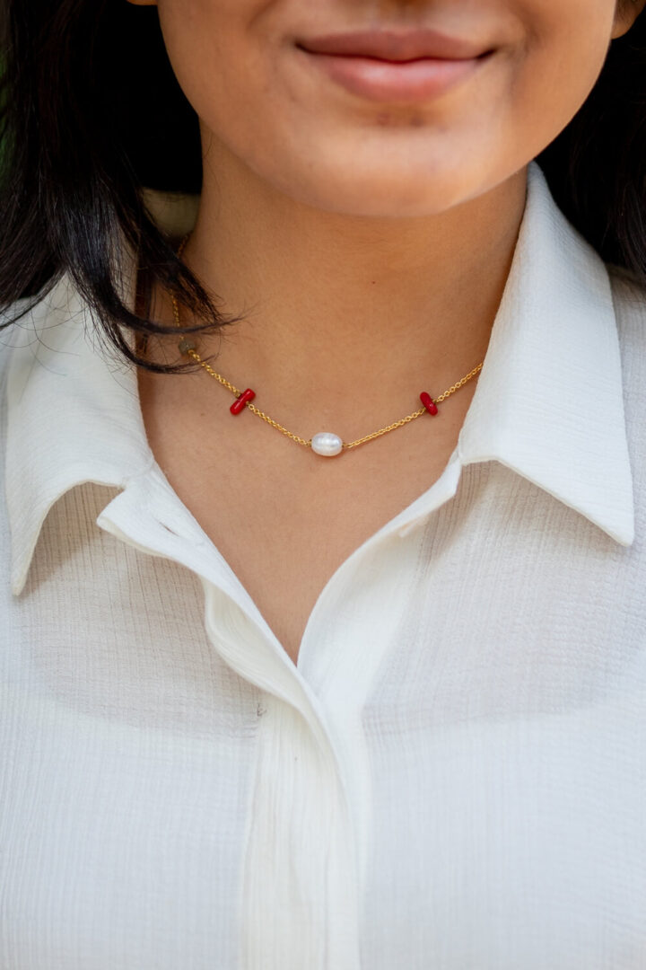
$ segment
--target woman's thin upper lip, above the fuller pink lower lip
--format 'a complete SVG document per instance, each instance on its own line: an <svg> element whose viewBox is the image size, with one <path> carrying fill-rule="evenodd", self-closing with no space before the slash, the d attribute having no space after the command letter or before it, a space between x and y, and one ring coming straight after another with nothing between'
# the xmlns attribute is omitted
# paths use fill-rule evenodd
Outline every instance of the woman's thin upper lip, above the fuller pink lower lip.
<svg viewBox="0 0 646 970"><path fill-rule="evenodd" d="M421 58L468 60L479 57L486 48L473 41L448 37L437 30L359 30L354 33L326 34L300 41L298 47L315 54L344 57L374 57L386 61Z"/></svg>

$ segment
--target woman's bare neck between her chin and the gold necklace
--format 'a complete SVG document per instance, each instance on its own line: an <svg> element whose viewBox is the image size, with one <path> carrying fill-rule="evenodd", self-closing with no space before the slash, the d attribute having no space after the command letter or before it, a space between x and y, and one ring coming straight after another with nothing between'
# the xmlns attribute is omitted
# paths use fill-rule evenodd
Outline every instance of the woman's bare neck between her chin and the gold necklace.
<svg viewBox="0 0 646 970"><path fill-rule="evenodd" d="M184 254L241 320L206 352L286 417L338 416L349 394L387 416L412 392L441 393L484 357L525 190L523 170L437 215L354 217L299 204L213 149Z"/></svg>

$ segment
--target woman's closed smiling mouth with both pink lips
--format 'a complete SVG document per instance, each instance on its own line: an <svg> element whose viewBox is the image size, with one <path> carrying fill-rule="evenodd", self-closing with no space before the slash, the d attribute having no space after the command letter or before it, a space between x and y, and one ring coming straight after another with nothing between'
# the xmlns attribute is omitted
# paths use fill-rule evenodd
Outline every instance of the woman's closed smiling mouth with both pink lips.
<svg viewBox="0 0 646 970"><path fill-rule="evenodd" d="M439 97L477 72L493 52L434 30L330 34L296 47L350 93L405 104Z"/></svg>

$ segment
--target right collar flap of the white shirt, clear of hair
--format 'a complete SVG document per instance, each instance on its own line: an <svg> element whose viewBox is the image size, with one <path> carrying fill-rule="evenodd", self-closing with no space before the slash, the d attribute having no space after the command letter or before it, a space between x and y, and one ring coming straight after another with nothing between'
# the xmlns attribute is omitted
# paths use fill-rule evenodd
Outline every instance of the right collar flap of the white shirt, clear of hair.
<svg viewBox="0 0 646 970"><path fill-rule="evenodd" d="M610 279L537 165L484 367L459 438L622 545L634 537L621 356Z"/></svg>

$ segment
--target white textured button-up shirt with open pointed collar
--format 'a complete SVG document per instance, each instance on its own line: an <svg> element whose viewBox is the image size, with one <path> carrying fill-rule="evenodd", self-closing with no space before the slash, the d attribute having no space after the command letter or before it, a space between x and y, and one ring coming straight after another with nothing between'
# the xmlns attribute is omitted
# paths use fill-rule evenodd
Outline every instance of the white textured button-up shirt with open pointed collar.
<svg viewBox="0 0 646 970"><path fill-rule="evenodd" d="M295 666L70 280L4 340L2 970L646 967L646 298L536 166L458 446Z"/></svg>

